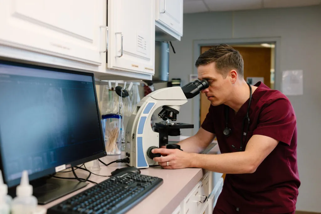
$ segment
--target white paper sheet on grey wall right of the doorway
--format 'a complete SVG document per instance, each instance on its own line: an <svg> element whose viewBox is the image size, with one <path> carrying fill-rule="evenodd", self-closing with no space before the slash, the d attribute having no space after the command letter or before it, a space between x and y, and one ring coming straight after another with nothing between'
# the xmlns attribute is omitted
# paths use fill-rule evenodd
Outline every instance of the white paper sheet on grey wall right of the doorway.
<svg viewBox="0 0 321 214"><path fill-rule="evenodd" d="M282 72L282 93L285 95L303 94L302 70L288 70Z"/></svg>

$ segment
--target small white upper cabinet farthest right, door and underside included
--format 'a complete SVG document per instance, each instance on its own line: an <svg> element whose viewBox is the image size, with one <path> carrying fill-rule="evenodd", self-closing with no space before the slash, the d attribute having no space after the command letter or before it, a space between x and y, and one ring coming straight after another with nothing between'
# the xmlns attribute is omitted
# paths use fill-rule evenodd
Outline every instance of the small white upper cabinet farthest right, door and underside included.
<svg viewBox="0 0 321 214"><path fill-rule="evenodd" d="M180 40L183 36L183 0L157 0L156 15L156 40ZM170 37L164 37L164 33Z"/></svg>

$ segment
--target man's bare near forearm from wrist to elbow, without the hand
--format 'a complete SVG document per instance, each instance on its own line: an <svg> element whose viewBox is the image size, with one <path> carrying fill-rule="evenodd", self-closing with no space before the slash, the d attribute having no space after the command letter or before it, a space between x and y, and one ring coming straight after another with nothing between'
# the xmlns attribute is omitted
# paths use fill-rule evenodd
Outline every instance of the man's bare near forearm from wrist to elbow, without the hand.
<svg viewBox="0 0 321 214"><path fill-rule="evenodd" d="M246 151L218 155L190 154L190 167L226 174L253 173L255 163Z"/></svg>

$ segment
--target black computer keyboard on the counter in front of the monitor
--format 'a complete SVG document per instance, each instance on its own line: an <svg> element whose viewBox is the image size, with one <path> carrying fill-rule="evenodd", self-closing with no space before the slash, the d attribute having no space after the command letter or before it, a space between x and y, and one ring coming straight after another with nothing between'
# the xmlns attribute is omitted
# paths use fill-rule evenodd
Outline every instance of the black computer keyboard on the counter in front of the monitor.
<svg viewBox="0 0 321 214"><path fill-rule="evenodd" d="M163 179L121 172L49 208L47 214L125 213L163 183Z"/></svg>

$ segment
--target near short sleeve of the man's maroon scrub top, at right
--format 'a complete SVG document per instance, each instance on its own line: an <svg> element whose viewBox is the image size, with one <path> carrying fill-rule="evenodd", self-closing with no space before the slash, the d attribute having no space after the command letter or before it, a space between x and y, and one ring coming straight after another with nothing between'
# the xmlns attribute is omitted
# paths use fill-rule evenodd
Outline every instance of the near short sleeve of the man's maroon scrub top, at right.
<svg viewBox="0 0 321 214"><path fill-rule="evenodd" d="M253 135L265 135L290 145L296 127L296 116L290 101L280 98L263 106Z"/></svg>

